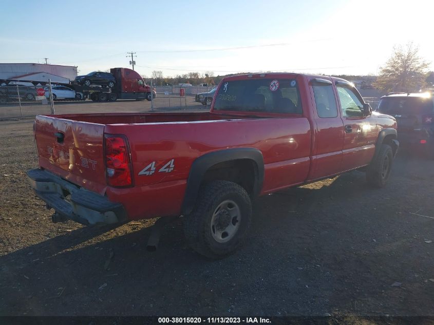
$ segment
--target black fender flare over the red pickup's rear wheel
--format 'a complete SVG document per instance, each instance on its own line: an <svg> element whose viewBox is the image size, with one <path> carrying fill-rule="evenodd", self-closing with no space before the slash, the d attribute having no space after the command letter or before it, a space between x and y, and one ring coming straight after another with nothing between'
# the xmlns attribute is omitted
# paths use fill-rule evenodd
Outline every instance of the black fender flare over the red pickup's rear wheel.
<svg viewBox="0 0 434 325"><path fill-rule="evenodd" d="M262 189L264 177L262 152L255 148L231 148L212 151L198 157L190 168L181 214L188 215L193 211L199 195L200 185L208 169L218 163L240 159L252 160L256 165L253 195L257 196Z"/></svg>

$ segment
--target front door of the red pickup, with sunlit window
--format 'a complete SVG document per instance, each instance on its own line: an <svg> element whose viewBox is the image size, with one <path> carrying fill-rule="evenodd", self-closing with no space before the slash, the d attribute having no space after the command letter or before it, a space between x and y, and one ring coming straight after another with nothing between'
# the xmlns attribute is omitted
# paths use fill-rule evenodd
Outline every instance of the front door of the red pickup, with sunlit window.
<svg viewBox="0 0 434 325"><path fill-rule="evenodd" d="M336 91L345 130L342 170L368 165L375 151L375 119L365 116L364 100L352 84L336 81Z"/></svg>

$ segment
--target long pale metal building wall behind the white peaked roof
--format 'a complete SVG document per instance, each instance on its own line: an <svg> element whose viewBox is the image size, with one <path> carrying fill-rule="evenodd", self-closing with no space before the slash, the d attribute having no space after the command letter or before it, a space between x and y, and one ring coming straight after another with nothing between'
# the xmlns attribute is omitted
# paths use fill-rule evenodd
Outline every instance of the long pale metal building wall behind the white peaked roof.
<svg viewBox="0 0 434 325"><path fill-rule="evenodd" d="M16 77L45 72L69 80L77 77L77 67L40 64L40 63L0 63L0 79L18 79Z"/></svg>

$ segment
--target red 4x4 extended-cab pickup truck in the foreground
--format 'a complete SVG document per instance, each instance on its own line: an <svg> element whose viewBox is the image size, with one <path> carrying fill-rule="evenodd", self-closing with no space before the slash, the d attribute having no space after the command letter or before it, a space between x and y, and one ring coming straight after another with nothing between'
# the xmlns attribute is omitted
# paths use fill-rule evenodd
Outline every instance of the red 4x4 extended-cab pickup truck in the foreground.
<svg viewBox="0 0 434 325"><path fill-rule="evenodd" d="M219 258L246 235L252 200L366 171L386 184L397 123L338 78L225 78L210 112L37 116L27 175L57 216L83 224L183 216L188 243Z"/></svg>

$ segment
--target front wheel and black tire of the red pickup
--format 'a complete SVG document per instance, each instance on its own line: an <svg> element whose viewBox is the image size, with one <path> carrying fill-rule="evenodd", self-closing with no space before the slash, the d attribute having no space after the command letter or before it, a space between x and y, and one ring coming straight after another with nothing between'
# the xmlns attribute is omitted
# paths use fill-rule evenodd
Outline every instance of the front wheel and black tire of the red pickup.
<svg viewBox="0 0 434 325"><path fill-rule="evenodd" d="M366 180L374 187L384 187L392 169L393 152L388 144L382 144L366 171Z"/></svg>

